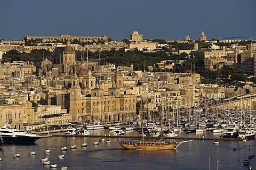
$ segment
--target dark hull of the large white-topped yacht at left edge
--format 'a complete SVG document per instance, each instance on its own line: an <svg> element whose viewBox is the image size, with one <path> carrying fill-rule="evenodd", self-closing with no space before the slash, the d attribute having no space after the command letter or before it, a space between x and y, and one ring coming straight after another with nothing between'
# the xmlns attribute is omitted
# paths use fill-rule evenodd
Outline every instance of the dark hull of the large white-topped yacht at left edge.
<svg viewBox="0 0 256 170"><path fill-rule="evenodd" d="M3 137L3 136L2 136ZM4 144L34 144L40 137L3 137Z"/></svg>

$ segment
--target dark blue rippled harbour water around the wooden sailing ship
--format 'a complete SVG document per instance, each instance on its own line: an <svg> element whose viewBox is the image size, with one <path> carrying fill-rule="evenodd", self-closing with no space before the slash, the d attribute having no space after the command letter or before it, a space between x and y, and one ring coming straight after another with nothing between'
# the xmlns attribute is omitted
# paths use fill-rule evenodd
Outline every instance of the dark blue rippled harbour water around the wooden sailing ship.
<svg viewBox="0 0 256 170"><path fill-rule="evenodd" d="M96 133L107 133L105 130ZM134 133L134 132L130 132ZM205 135L206 134L180 134ZM256 157L249 159L250 165L243 166L242 162L249 155L256 155L255 140L251 141L220 141L214 145L211 140L194 140L182 143L177 150L138 151L124 150L118 142L122 139L108 138L112 143L99 142L94 146L94 141L99 138L87 137L51 137L39 139L35 145L3 145L0 150L0 169L50 169L50 165L41 163L42 157L49 157L51 164L57 164L68 169L208 169L209 155L210 168L217 169L248 169L251 166L256 169ZM172 141L172 140L170 140ZM87 143L87 147L81 147ZM76 145L76 149L70 149ZM67 147L67 151L61 151L61 147ZM236 148L236 151L233 151ZM249 149L250 148L250 149ZM49 154L44 150L51 149ZM35 156L29 156L30 151L36 151ZM14 154L20 154L20 158L13 158ZM58 155L65 158L58 159ZM239 161L240 160L240 161ZM54 168L53 168L54 169Z"/></svg>

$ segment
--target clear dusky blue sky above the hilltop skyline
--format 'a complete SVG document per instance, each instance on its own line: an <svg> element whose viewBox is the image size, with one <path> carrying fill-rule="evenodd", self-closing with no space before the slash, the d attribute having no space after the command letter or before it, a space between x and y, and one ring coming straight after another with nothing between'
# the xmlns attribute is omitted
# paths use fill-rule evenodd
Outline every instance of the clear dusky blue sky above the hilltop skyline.
<svg viewBox="0 0 256 170"><path fill-rule="evenodd" d="M103 36L181 40L185 35L256 39L255 0L0 0L0 39Z"/></svg>

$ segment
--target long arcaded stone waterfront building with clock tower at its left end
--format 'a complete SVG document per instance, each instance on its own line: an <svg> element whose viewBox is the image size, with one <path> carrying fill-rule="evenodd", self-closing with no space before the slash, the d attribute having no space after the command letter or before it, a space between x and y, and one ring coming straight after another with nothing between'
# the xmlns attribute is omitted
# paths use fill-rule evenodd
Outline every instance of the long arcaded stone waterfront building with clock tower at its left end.
<svg viewBox="0 0 256 170"><path fill-rule="evenodd" d="M119 81L117 81L117 84ZM122 83L120 84L120 86ZM97 85L98 86L98 85ZM136 96L126 94L121 88L88 88L82 94L79 78L74 74L70 90L70 115L73 121L99 121L100 123L125 122L135 118Z"/></svg>

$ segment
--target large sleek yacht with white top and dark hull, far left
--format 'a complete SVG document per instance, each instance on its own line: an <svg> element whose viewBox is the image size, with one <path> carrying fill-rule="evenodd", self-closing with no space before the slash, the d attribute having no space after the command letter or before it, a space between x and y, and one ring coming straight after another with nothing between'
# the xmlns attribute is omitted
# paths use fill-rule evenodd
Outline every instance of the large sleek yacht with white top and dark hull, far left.
<svg viewBox="0 0 256 170"><path fill-rule="evenodd" d="M33 144L39 138L37 134L26 133L25 131L13 129L10 124L6 124L0 128L0 135L5 144Z"/></svg>

